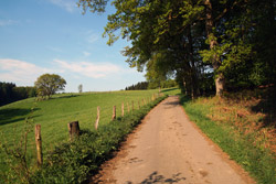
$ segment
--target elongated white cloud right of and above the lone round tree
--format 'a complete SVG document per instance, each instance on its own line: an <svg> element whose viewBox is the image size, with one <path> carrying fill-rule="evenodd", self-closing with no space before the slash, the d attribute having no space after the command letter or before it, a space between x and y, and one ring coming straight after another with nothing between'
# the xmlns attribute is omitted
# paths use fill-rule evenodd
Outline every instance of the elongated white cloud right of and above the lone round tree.
<svg viewBox="0 0 276 184"><path fill-rule="evenodd" d="M114 64L95 64L88 62L70 63L61 59L54 59L59 68L83 75L89 78L104 78L113 74L118 74L123 69Z"/></svg>

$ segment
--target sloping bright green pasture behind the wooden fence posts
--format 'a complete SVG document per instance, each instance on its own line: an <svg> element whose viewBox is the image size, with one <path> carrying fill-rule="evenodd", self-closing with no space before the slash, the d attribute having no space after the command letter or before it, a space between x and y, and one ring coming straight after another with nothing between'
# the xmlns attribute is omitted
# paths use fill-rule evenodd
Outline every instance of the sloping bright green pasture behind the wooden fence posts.
<svg viewBox="0 0 276 184"><path fill-rule="evenodd" d="M45 152L54 148L54 145L68 140L67 123L71 121L78 120L81 129L94 130L97 106L100 107L100 126L112 120L113 106L117 107L117 117L119 117L123 102L125 104L125 113L128 113L127 104L129 104L131 110L134 101L135 109L137 109L138 101L142 106L142 99L149 101L152 95L157 93L158 90L128 90L61 94L44 101L36 102L34 98L17 101L0 107L0 141L9 143L11 147L14 142L19 142L20 136L24 132L25 118L30 117L34 125L41 125L42 147L43 152ZM177 88L163 89L163 93L176 95L180 90ZM29 158L35 158L33 132L29 134L28 140ZM2 156L1 162L3 162ZM1 164L0 170L4 170Z"/></svg>

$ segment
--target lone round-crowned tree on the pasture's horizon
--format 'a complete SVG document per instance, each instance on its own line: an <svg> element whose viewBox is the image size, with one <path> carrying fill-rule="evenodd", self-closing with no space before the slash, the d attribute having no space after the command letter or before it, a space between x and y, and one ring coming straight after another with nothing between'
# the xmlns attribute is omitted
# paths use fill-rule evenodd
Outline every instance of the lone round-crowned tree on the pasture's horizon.
<svg viewBox="0 0 276 184"><path fill-rule="evenodd" d="M56 91L64 90L66 80L56 74L43 74L34 83L38 95L43 98L51 98Z"/></svg>

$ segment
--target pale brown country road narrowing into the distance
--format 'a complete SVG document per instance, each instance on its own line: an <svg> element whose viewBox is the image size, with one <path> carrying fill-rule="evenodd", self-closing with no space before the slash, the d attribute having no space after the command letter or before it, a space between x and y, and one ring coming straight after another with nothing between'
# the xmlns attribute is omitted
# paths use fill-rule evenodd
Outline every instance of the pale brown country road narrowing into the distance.
<svg viewBox="0 0 276 184"><path fill-rule="evenodd" d="M178 97L158 105L92 183L254 183L188 120Z"/></svg>

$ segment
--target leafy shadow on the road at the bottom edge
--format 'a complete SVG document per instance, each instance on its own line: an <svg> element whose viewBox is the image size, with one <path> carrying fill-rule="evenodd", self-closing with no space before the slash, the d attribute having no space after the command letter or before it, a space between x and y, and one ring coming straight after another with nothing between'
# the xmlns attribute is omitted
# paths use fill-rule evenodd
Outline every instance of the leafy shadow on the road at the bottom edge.
<svg viewBox="0 0 276 184"><path fill-rule="evenodd" d="M147 178L145 178L140 184L152 184L152 183L179 183L185 181L185 177L181 176L181 173L172 174L171 177L164 177L161 174L158 174L157 171L152 172ZM127 181L127 184L134 184L131 181Z"/></svg>

